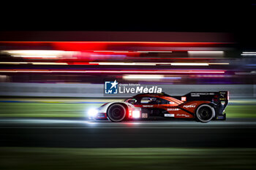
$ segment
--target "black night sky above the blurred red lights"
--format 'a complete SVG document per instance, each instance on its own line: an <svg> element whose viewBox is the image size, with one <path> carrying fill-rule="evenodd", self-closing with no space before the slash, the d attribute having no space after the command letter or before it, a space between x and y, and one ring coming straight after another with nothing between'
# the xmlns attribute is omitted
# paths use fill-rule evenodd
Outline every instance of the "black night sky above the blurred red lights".
<svg viewBox="0 0 256 170"><path fill-rule="evenodd" d="M34 5L1 11L0 31L230 32L248 48L256 38L254 1Z"/></svg>

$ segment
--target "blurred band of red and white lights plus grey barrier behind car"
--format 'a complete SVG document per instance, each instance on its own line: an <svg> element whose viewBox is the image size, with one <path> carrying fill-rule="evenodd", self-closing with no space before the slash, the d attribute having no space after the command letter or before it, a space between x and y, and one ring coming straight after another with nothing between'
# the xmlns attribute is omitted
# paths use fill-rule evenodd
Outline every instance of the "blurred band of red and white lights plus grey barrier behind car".
<svg viewBox="0 0 256 170"><path fill-rule="evenodd" d="M68 35L68 36L67 36ZM255 97L254 50L233 34L142 31L1 33L1 96L103 98L105 80L165 93Z"/></svg>

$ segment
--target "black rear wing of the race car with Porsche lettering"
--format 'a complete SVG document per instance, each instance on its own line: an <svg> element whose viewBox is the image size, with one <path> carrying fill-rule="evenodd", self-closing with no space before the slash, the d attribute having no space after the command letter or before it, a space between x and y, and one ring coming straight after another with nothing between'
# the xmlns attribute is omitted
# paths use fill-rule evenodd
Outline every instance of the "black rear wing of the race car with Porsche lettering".
<svg viewBox="0 0 256 170"><path fill-rule="evenodd" d="M228 91L219 92L191 92L184 96L172 96L181 101L211 101L215 104L225 104L227 105L229 101Z"/></svg>

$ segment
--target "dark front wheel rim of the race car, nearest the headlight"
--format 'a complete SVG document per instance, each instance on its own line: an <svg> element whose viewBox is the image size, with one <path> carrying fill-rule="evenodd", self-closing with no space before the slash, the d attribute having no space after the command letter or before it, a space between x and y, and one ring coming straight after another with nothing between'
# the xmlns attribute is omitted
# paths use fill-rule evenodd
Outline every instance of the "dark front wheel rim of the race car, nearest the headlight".
<svg viewBox="0 0 256 170"><path fill-rule="evenodd" d="M110 120L121 121L125 117L125 109L121 105L114 105L113 107L110 107L108 116L110 117Z"/></svg>

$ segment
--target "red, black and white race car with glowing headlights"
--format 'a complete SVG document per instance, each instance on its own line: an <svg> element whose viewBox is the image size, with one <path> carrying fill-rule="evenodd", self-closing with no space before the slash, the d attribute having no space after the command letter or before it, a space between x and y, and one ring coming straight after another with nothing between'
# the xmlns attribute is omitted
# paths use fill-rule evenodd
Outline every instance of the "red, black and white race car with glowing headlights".
<svg viewBox="0 0 256 170"><path fill-rule="evenodd" d="M160 120L173 118L197 120L226 120L228 91L192 92L184 96L166 93L141 93L124 101L109 102L89 111L91 120Z"/></svg>

